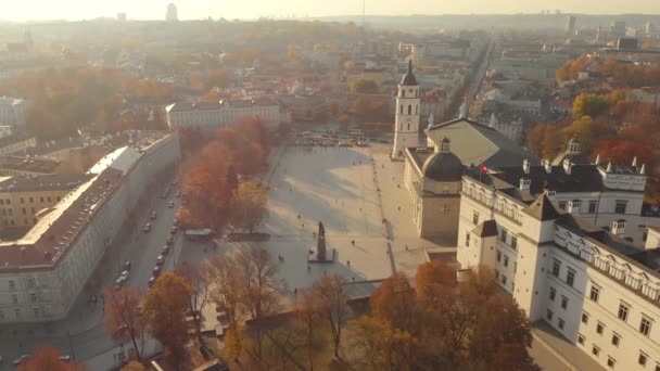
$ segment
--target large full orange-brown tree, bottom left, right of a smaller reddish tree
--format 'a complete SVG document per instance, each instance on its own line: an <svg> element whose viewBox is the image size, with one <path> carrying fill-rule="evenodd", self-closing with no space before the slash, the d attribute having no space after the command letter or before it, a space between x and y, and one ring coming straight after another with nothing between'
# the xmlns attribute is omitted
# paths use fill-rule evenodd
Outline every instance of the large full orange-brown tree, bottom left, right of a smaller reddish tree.
<svg viewBox="0 0 660 371"><path fill-rule="evenodd" d="M193 292L185 278L166 272L158 277L142 303L141 318L147 331L165 346L175 364L185 359L186 311Z"/></svg>

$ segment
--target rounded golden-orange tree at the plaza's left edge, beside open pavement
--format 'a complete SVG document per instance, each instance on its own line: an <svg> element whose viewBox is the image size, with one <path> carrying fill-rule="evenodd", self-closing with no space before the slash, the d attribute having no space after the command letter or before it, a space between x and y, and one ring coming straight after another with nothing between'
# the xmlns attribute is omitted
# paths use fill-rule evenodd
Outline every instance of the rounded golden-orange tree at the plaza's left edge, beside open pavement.
<svg viewBox="0 0 660 371"><path fill-rule="evenodd" d="M234 228L254 231L266 217L266 190L255 180L241 182L229 203L229 221Z"/></svg>

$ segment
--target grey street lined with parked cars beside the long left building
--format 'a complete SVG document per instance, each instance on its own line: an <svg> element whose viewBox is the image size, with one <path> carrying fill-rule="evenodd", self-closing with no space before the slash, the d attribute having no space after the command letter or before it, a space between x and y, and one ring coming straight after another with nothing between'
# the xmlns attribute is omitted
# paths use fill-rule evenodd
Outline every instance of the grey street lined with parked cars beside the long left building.
<svg viewBox="0 0 660 371"><path fill-rule="evenodd" d="M173 187L166 200L161 199L163 190L170 186L173 179L168 177L155 182L156 186L148 192L145 203L148 207L136 206L136 221L127 223L129 227L118 233L102 258L100 269L94 273L99 274L101 289L94 292L82 290L68 318L52 323L2 327L0 356L4 361L0 364L0 370L11 370L14 359L24 354L31 354L39 346L54 346L62 355L69 355L82 362L119 346L103 329L102 291L103 287L114 285L126 260L131 261L131 269L125 286L141 292L147 291L152 269L156 265L156 257L162 254L162 247L169 236L169 229L180 202L180 199L176 197L178 187ZM170 201L175 204L172 208L168 207ZM149 218L151 210L157 213L155 220ZM151 222L152 228L145 233L142 227L147 222ZM179 231L169 254L165 257L163 270L174 268L175 260L179 260L178 255L183 244L183 236ZM92 298L94 295L96 300ZM127 350L129 346L125 345L124 348Z"/></svg>

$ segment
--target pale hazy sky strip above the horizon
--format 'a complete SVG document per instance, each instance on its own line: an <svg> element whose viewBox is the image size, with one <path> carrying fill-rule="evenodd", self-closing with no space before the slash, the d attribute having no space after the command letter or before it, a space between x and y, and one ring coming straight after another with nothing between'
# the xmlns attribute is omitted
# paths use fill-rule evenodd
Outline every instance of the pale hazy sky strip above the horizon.
<svg viewBox="0 0 660 371"><path fill-rule="evenodd" d="M259 16L322 16L361 13L361 0L8 0L0 18L79 20L115 16L161 20L169 2L179 18L256 18ZM574 13L660 14L660 0L366 0L367 14L537 13L559 9Z"/></svg>

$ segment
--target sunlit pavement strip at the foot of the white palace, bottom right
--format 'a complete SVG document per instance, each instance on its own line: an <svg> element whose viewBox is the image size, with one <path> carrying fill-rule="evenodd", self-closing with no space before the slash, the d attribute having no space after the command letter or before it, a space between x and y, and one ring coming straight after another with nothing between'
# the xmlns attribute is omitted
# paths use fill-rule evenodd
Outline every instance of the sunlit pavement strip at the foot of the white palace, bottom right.
<svg viewBox="0 0 660 371"><path fill-rule="evenodd" d="M559 331L545 321L532 323L532 336L534 341L544 345L569 370L605 371L602 366L566 340Z"/></svg>

